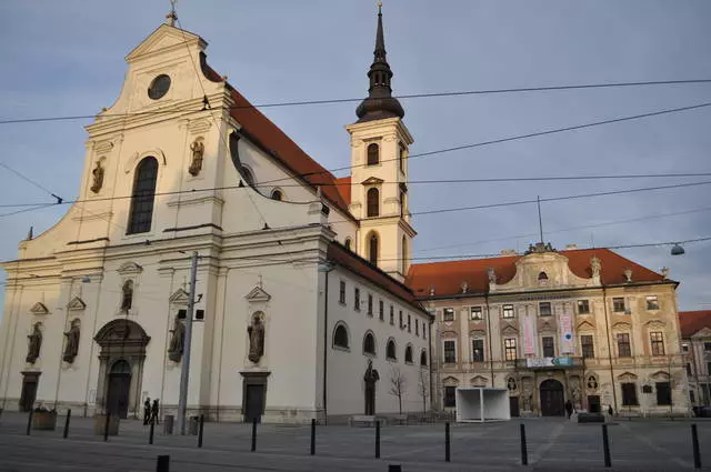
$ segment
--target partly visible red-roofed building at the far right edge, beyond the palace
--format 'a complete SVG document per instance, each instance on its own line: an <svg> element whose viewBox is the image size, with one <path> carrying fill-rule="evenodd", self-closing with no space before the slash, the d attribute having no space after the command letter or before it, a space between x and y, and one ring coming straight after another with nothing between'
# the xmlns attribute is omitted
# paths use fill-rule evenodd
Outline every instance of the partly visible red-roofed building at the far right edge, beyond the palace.
<svg viewBox="0 0 711 472"><path fill-rule="evenodd" d="M694 409L711 406L711 310L682 311L679 322L689 376L689 401Z"/></svg>

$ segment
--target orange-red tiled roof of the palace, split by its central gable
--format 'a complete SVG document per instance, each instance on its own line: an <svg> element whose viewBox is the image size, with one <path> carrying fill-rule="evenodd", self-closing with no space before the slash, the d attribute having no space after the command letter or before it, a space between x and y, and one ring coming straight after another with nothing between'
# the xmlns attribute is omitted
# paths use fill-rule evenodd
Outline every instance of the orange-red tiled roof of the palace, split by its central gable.
<svg viewBox="0 0 711 472"><path fill-rule="evenodd" d="M590 259L594 255L601 261L600 279L607 285L627 282L624 270L632 270L634 282L661 282L664 278L609 249L574 249L558 251L568 258L568 267L578 277L590 279ZM523 255L504 255L488 259L464 261L430 262L412 264L405 284L418 298L429 297L430 287L434 287L434 295L454 295L461 293L461 284L467 281L469 292L484 293L489 291L488 269L497 272L499 284L509 282L515 275L515 262Z"/></svg>

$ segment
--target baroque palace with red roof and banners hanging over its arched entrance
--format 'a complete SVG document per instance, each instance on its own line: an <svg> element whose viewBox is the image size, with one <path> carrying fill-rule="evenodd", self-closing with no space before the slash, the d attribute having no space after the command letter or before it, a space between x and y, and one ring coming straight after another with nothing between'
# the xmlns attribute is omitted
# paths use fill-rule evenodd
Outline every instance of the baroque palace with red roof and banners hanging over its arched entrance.
<svg viewBox="0 0 711 472"><path fill-rule="evenodd" d="M412 265L417 298L435 315L437 405L458 386L507 388L512 415L577 410L689 414L677 317L678 282L607 249Z"/></svg>

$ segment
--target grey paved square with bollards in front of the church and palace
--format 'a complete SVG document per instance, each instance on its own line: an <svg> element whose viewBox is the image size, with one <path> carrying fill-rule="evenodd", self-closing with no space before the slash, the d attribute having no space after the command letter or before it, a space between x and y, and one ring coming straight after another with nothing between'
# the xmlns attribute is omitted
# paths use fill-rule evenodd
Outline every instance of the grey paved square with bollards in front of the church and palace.
<svg viewBox="0 0 711 472"><path fill-rule="evenodd" d="M374 429L318 426L316 455L310 455L309 426L260 424L257 451L250 452L251 425L206 423L203 448L197 436L163 435L154 443L140 421L126 420L118 436L94 435L93 420L72 418L57 431L26 435L27 414L4 413L0 420L0 471L154 471L160 454L170 455L170 471L569 471L693 470L691 421L634 420L608 426L612 469L604 469L599 424L560 419L531 419L488 424L451 425L451 462L444 462L444 425L384 426L381 459L374 459ZM521 465L519 424L527 430L529 465ZM711 471L711 422L698 421L704 470Z"/></svg>

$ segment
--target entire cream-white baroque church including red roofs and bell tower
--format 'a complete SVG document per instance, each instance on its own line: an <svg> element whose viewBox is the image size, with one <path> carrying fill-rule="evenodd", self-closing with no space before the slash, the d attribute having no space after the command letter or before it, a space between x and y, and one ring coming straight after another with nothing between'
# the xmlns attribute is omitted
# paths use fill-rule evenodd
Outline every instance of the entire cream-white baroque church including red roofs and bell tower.
<svg viewBox="0 0 711 472"><path fill-rule="evenodd" d="M404 285L413 139L382 17L346 179L252 108L206 47L171 20L127 56L118 99L86 128L78 201L3 263L1 406L132 416L150 398L174 411L198 252L190 414L429 409L432 317Z"/></svg>

